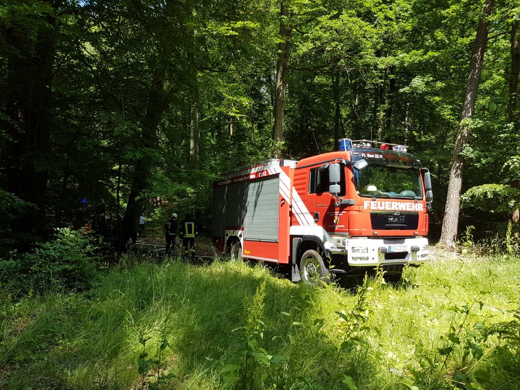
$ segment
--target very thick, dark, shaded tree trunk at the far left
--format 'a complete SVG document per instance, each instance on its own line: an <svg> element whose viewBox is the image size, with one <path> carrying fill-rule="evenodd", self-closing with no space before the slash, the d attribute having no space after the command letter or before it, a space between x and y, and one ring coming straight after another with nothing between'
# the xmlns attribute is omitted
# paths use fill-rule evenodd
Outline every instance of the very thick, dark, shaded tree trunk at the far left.
<svg viewBox="0 0 520 390"><path fill-rule="evenodd" d="M53 0L43 3L54 10L57 7ZM10 48L5 80L6 115L10 118L7 134L11 137L5 150L7 189L38 207L34 214L14 220L11 228L32 239L45 233L47 168L41 161L50 148L56 41L54 11L42 15L34 27L14 17L10 29L2 31ZM36 30L34 40L28 29ZM20 244L25 250L29 243Z"/></svg>

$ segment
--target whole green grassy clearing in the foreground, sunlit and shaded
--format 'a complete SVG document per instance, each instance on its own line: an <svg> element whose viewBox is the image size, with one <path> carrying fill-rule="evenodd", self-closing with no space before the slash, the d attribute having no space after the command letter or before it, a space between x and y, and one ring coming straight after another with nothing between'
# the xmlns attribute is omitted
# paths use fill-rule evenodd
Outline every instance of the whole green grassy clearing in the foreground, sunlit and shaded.
<svg viewBox="0 0 520 390"><path fill-rule="evenodd" d="M146 360L165 337L159 374L180 378L165 389L518 389L519 269L516 258L444 256L357 291L170 261L114 269L83 294L2 293L0 388L141 388L140 339Z"/></svg>

